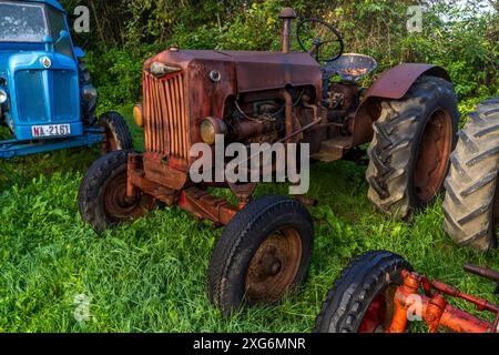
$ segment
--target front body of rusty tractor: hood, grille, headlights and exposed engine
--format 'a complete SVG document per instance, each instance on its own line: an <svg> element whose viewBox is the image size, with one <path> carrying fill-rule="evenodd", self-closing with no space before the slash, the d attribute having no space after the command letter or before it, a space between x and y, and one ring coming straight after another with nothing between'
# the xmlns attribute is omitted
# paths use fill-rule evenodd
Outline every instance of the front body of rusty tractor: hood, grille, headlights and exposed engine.
<svg viewBox="0 0 499 355"><path fill-rule="evenodd" d="M134 110L144 162L186 172L191 146L212 145L216 134L227 143L288 141L326 118L322 98L320 67L307 53L171 48L144 64L143 104Z"/></svg>

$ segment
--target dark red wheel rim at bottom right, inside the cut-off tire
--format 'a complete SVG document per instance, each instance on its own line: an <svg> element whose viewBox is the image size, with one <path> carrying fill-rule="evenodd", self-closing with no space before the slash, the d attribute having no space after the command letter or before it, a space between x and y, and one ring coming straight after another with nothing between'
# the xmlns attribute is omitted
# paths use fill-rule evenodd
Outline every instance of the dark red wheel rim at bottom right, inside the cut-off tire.
<svg viewBox="0 0 499 355"><path fill-rule="evenodd" d="M387 287L367 308L357 333L386 333L394 315L396 286Z"/></svg>

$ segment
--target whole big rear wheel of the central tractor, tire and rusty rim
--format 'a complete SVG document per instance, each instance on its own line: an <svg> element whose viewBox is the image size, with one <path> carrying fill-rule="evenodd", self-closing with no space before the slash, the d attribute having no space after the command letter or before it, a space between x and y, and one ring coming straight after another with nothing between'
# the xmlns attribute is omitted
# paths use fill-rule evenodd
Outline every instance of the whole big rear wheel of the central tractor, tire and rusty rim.
<svg viewBox="0 0 499 355"><path fill-rule="evenodd" d="M421 77L401 100L380 106L369 149L368 196L381 212L410 220L442 189L457 141L457 97L450 82Z"/></svg>

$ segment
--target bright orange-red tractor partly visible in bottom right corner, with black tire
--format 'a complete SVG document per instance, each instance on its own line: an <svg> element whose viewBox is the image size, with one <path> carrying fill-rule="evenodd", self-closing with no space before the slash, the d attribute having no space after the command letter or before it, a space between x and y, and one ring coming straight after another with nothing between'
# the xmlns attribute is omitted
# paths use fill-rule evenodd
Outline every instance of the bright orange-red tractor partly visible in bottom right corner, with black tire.
<svg viewBox="0 0 499 355"><path fill-rule="evenodd" d="M466 265L469 273L497 284L499 272ZM449 304L465 300L479 312L491 313L488 322ZM405 333L410 322L424 321L431 333L499 333L499 305L468 295L439 281L413 272L400 255L369 252L348 265L328 293L316 320L317 333Z"/></svg>

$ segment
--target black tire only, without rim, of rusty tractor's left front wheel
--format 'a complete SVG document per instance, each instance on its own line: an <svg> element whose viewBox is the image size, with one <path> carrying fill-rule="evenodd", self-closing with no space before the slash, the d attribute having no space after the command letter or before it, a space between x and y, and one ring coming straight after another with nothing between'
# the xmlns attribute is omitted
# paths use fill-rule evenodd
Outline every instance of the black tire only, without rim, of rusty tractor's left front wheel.
<svg viewBox="0 0 499 355"><path fill-rule="evenodd" d="M109 215L105 211L104 193L108 185L116 176L125 174L128 155L131 151L115 151L101 156L95 161L83 178L78 195L80 215L83 222L89 223L98 233L105 231L121 222L142 216L152 210L154 200L138 192L138 202L129 217ZM123 191L125 193L125 191Z"/></svg>

